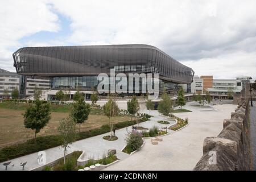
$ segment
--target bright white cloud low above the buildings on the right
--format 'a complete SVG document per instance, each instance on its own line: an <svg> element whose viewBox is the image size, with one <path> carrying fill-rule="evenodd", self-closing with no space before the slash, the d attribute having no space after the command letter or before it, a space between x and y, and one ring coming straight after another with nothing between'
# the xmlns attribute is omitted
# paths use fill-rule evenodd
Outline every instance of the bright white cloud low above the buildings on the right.
<svg viewBox="0 0 256 182"><path fill-rule="evenodd" d="M256 79L256 52L227 53L200 60L185 60L181 63L191 67L196 75L213 75L213 78L236 78L251 76Z"/></svg>

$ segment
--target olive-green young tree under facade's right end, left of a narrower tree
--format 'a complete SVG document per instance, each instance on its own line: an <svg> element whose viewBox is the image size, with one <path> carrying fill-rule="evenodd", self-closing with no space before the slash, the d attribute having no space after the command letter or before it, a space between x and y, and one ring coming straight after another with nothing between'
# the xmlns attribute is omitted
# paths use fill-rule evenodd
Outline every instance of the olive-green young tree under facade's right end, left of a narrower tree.
<svg viewBox="0 0 256 182"><path fill-rule="evenodd" d="M163 116L165 117L169 113L171 113L171 107L172 107L172 100L168 96L168 94L164 92L162 94L162 100L158 104L158 111L159 113L163 114Z"/></svg>

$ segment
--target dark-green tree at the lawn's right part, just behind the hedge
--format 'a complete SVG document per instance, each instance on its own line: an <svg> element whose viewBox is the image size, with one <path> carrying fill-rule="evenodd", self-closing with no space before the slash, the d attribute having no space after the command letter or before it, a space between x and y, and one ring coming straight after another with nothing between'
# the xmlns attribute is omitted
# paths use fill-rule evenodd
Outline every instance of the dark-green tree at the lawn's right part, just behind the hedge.
<svg viewBox="0 0 256 182"><path fill-rule="evenodd" d="M79 134L80 134L81 123L84 123L85 120L88 119L89 113L90 113L90 105L85 103L85 101L82 100L81 98L79 101L75 102L72 105L70 116L75 123L79 124Z"/></svg>

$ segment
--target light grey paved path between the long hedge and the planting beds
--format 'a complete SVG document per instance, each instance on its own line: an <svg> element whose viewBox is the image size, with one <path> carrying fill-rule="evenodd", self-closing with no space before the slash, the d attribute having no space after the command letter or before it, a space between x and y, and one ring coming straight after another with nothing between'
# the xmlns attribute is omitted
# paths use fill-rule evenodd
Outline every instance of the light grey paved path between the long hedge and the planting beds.
<svg viewBox="0 0 256 182"><path fill-rule="evenodd" d="M154 115L155 113L157 113L155 117L151 118L150 121L141 123L140 126L146 127L148 129L150 129L154 125L158 127L163 126L157 122L159 120L162 120L163 117L160 117L157 111L151 111L152 115ZM174 123L175 123L174 121L170 121L170 125ZM131 131L131 126L127 127L127 131ZM125 147L126 145L125 138L126 138L127 131L126 131L126 128L116 130L115 135L118 137L118 140L115 140L115 141L107 141L102 139L102 137L104 137L105 135L108 135L108 134L102 134L96 137L90 137L90 138L79 140L77 142L73 142L71 144L71 148L68 148L68 154L71 153L72 151L85 151L86 157L88 159L101 159L102 156L106 154L110 148L114 148L117 150L117 158L125 159L130 156L124 152L121 152L122 148ZM60 148L60 147L49 148L48 150L44 150L44 151L46 152L46 163L51 163L54 160L64 156L63 148ZM36 152L34 154L9 160L11 161L11 164L9 165L8 170L9 171L22 170L22 167L20 167L20 163L24 163L24 162L27 162L24 170L31 170L31 169L40 167L37 159L38 159L38 153ZM0 163L0 171L5 170L5 166L3 166L3 163ZM14 166L12 166L13 164Z"/></svg>

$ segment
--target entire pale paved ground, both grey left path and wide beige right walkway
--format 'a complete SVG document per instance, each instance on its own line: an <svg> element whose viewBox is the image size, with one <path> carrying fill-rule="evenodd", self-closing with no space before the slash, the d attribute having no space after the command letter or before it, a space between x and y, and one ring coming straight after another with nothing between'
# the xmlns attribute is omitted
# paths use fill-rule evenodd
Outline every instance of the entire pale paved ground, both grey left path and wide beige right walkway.
<svg viewBox="0 0 256 182"><path fill-rule="evenodd" d="M230 113L237 107L236 105L216 105L214 111L200 111L191 106L184 107L192 110L191 113L175 113L178 117L189 119L189 125L180 131L168 130L169 135L163 137L163 142L158 145L152 145L150 139L145 139L146 144L143 148L133 155L121 152L125 146L125 137L127 130L131 127L115 131L118 140L106 141L102 139L106 134L98 135L74 142L68 153L72 151L85 151L89 158L98 159L110 148L117 150L117 157L121 159L118 163L106 168L106 170L191 170L196 162L203 155L203 141L205 137L217 136L222 130L223 119L230 118ZM149 113L148 110L142 110L142 113ZM163 126L157 121L163 117L158 111L151 111L154 115L150 121L140 125L150 128L154 125ZM174 124L174 122L171 122ZM54 147L45 150L47 163L63 157L63 148ZM25 170L31 170L39 167L37 162L38 154L30 154L20 158L12 159L9 170L21 170L20 163L27 162ZM12 166L14 164L14 166ZM4 170L3 163L0 163L0 170Z"/></svg>

